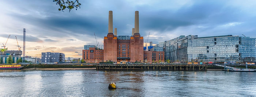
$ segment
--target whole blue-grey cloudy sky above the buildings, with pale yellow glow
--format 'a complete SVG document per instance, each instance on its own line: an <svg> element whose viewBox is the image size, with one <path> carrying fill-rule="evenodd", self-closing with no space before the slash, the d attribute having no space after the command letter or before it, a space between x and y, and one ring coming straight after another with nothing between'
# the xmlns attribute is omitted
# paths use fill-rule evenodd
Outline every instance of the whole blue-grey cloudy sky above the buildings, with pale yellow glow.
<svg viewBox="0 0 256 97"><path fill-rule="evenodd" d="M140 35L150 32L153 44L180 35L256 36L255 0L79 0L78 10L58 11L53 0L3 0L0 3L0 43L18 50L26 28L26 55L60 52L82 58L83 45L99 44L108 33L108 11L118 35L131 35L139 11ZM2 46L2 45L1 45Z"/></svg>

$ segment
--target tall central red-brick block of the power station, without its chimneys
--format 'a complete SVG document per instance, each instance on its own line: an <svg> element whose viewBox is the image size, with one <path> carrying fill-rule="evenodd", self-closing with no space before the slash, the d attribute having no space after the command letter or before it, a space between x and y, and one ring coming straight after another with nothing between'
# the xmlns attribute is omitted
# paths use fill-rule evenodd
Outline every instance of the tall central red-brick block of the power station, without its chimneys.
<svg viewBox="0 0 256 97"><path fill-rule="evenodd" d="M130 39L117 39L113 33L104 37L104 61L143 62L143 37L135 33Z"/></svg>

